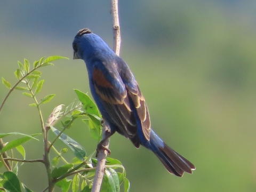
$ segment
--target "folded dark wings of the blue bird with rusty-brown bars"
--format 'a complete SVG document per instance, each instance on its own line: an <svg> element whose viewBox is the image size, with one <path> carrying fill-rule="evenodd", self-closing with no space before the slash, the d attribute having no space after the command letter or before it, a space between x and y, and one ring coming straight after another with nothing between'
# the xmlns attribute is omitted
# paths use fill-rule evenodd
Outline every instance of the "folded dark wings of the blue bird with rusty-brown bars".
<svg viewBox="0 0 256 192"><path fill-rule="evenodd" d="M98 66L98 65L95 65ZM125 78L127 79L127 78ZM147 112L147 106L141 95L137 82L123 80L115 65L101 65L94 67L92 81L95 91L99 95L102 105L110 116L111 123L114 123L119 131L128 137L134 144L139 147L138 125L136 121L136 112L141 119L141 127L145 127L143 134L149 140L150 121ZM135 86L134 86L135 85ZM135 110L134 107L135 106ZM147 118L148 116L148 118ZM148 119L148 120L147 120Z"/></svg>

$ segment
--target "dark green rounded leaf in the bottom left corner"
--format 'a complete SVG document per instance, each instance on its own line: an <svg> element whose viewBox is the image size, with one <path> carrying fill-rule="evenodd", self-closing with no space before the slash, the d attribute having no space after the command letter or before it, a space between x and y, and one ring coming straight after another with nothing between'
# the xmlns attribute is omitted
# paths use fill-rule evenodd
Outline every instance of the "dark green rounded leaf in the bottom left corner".
<svg viewBox="0 0 256 192"><path fill-rule="evenodd" d="M17 175L11 171L3 173L3 187L11 192L21 192L20 181Z"/></svg>

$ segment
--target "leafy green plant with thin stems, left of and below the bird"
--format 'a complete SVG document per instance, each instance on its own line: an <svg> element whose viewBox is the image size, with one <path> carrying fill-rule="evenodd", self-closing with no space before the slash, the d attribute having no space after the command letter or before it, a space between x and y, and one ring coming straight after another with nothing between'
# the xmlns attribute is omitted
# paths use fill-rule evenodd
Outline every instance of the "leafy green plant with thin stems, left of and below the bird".
<svg viewBox="0 0 256 192"><path fill-rule="evenodd" d="M20 192L22 191L21 186L23 191L32 191L26 187L25 184L21 183L17 176L19 166L26 162L39 162L44 164L49 181L49 186L47 186L46 189L49 189L50 191L52 191L55 186L60 187L63 192L69 190L73 192L91 191L97 165L97 159L92 158L95 151L86 157L84 147L63 132L66 129L73 129L73 122L76 119L81 119L89 127L91 137L100 141L102 134L102 118L97 106L87 94L75 90L79 101L74 100L63 110L62 108L64 105L55 107L49 118L44 121L41 105L51 101L55 94L48 94L40 101L36 98L37 94L43 89L44 84L44 79L39 80L42 72L38 69L44 66L52 66L53 64L51 62L58 59L67 58L55 55L46 59L41 58L38 61L35 61L33 65L30 65L27 59L25 59L23 63L18 62L19 68L14 72L18 82L13 86L2 77L2 83L9 89L9 93L7 93L0 107L0 112L13 90L23 91L23 95L34 100L29 106L36 107L41 120L41 130L43 132L43 134L35 133L31 135L19 132L0 133L0 139L10 138L7 137L9 135L19 137L18 139L10 140L5 144L0 141L2 144L2 147L0 145L0 167L5 166L7 170L6 172L0 173L0 187L4 188L5 191ZM23 85L20 86L20 84ZM61 131L57 129L58 126L60 127L60 129L58 129ZM52 141L48 140L49 131L50 133L53 132L55 134L55 138ZM41 138L37 139L39 136L41 136ZM54 147L54 144L58 139L73 152L74 158L71 159L71 161L68 162L64 157L65 154L69 153L67 148L58 150ZM23 147L23 144L33 140L43 140L43 159L26 159L26 149ZM14 158L14 156L16 156L16 153L14 153L15 151L13 151L14 148L22 156L22 159ZM54 151L56 154L52 159L49 157L50 150ZM118 192L120 191L120 185L123 183L124 190L129 191L130 184L129 187L127 187L127 182L129 183L121 162L117 159L108 157L101 190Z"/></svg>

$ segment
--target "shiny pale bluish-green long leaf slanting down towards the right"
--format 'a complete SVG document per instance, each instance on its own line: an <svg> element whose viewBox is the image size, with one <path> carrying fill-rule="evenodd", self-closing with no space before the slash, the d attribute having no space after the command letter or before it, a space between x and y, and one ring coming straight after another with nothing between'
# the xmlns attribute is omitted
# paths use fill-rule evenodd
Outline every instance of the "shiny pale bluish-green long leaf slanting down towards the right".
<svg viewBox="0 0 256 192"><path fill-rule="evenodd" d="M60 131L55 129L53 126L51 126L51 130L56 134L59 135ZM68 137L66 134L62 133L59 137L61 141L63 141L75 154L75 156L80 159L81 161L84 161L84 157L86 156L85 149L75 140Z"/></svg>

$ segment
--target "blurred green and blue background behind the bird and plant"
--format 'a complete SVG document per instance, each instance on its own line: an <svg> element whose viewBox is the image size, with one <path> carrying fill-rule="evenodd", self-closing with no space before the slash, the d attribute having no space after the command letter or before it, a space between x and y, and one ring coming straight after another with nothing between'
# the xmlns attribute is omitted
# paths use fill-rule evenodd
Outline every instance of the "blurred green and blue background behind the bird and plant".
<svg viewBox="0 0 256 192"><path fill-rule="evenodd" d="M131 191L256 190L255 9L256 2L250 0L119 2L121 56L146 98L152 127L197 167L192 175L174 177L153 153L137 150L115 134L110 157L125 166ZM88 27L112 47L109 10L106 0L2 1L0 76L13 84L18 60L69 57L42 69L45 83L38 97L57 94L42 106L45 118L55 106L76 98L73 89L90 92L84 62L72 60L72 42L79 29ZM1 102L6 94L0 85ZM31 102L20 91L13 92L0 115L0 132L41 132ZM97 146L84 123L75 122L66 133L87 153ZM65 147L57 144L58 149ZM25 148L28 159L42 158L42 139ZM25 163L19 177L34 191L47 185L41 164Z"/></svg>

